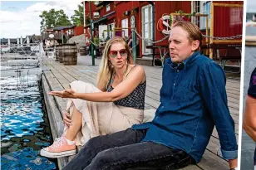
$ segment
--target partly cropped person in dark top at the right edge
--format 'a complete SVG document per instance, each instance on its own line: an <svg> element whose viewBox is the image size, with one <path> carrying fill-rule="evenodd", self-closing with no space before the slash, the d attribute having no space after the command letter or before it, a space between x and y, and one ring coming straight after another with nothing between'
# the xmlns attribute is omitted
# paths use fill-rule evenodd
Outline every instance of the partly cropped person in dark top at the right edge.
<svg viewBox="0 0 256 170"><path fill-rule="evenodd" d="M244 110L244 130L256 142L256 68L252 72L246 105ZM254 169L256 169L256 149L254 151Z"/></svg>

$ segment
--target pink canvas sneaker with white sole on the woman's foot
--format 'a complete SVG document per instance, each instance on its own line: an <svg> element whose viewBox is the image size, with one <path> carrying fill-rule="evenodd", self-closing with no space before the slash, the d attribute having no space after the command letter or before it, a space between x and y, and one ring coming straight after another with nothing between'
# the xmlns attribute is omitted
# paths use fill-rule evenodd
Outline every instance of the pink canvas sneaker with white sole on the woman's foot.
<svg viewBox="0 0 256 170"><path fill-rule="evenodd" d="M60 158L76 154L76 143L69 145L66 138L56 138L54 143L40 150L40 154L47 158Z"/></svg>

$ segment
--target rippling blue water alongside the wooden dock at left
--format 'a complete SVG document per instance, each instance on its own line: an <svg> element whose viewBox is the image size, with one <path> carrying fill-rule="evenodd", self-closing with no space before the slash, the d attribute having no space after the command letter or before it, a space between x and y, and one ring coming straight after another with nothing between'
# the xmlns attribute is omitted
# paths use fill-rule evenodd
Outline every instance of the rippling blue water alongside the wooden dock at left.
<svg viewBox="0 0 256 170"><path fill-rule="evenodd" d="M1 54L1 168L57 169L56 159L38 154L52 143L40 83L42 51L30 44L19 46L20 53L13 48Z"/></svg>

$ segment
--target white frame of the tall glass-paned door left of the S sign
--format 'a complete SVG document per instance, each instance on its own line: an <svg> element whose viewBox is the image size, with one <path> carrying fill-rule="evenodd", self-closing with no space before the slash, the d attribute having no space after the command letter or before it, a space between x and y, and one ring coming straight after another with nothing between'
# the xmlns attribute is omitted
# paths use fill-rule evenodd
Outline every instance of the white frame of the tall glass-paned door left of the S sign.
<svg viewBox="0 0 256 170"><path fill-rule="evenodd" d="M144 21L144 17L145 17L145 13L144 13L144 10L145 8L148 8L148 22L145 22ZM153 37L153 16L152 16L152 5L146 5L144 7L141 7L141 32L142 32L142 36L145 37L145 24L148 24L148 32L149 32L149 35L148 35L148 38L149 39L152 39ZM145 45L146 44L146 45ZM145 46L150 46L152 45L152 43L150 42L147 42L147 41L143 41L142 40L142 55L150 55L152 54L152 49L146 49Z"/></svg>

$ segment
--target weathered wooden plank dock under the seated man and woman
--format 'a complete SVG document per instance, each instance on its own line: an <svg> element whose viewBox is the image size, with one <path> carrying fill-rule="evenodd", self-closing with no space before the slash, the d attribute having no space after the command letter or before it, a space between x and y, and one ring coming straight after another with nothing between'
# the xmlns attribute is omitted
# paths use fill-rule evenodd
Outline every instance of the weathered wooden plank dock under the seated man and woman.
<svg viewBox="0 0 256 170"><path fill-rule="evenodd" d="M96 85L96 74L100 59L96 59L96 66L91 66L91 56L78 56L76 66L64 66L53 59L43 58L43 67L47 68L42 74L42 89L47 105L47 113L49 115L52 136L57 138L62 134L63 123L61 110L66 108L66 100L46 95L50 90L64 90L69 88L69 83L74 80L82 80L87 83ZM146 74L146 92L145 92L145 109L156 109L160 104L160 87L162 68L153 66L144 66ZM239 94L240 79L239 75L227 75L226 90L228 93L229 110L235 122L235 134L238 141L239 134ZM219 137L216 129L210 138L204 156L198 165L191 165L184 170L199 169L229 169L229 163L221 158L219 151ZM63 163L67 158L59 158L59 167L63 167Z"/></svg>

